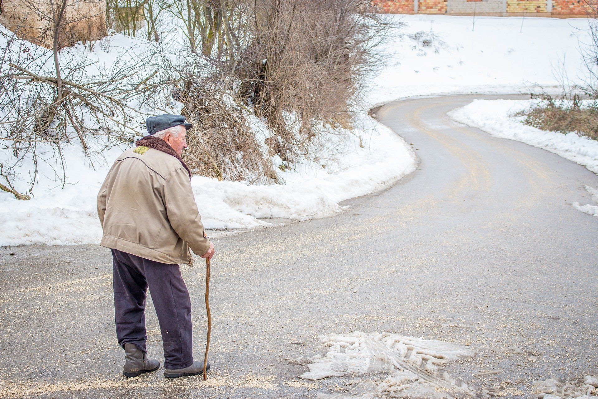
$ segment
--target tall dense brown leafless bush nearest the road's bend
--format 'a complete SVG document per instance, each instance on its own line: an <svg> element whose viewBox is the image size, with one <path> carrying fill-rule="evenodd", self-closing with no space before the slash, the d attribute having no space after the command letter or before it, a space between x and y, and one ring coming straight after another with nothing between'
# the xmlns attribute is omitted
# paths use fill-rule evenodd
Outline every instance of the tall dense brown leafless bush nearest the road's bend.
<svg viewBox="0 0 598 399"><path fill-rule="evenodd" d="M292 163L319 121L350 125L349 111L379 62L374 48L389 25L364 0L262 0L244 7L254 21L234 70L239 93L275 132L271 147Z"/></svg>

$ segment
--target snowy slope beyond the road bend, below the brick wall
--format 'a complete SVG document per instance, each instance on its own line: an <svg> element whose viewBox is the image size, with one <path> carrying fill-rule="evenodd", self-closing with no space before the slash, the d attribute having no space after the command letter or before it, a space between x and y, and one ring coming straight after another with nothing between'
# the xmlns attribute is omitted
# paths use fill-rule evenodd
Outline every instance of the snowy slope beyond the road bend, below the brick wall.
<svg viewBox="0 0 598 399"><path fill-rule="evenodd" d="M588 20L405 15L407 24L386 45L386 67L368 100L377 105L414 96L529 93L584 80L579 47ZM542 89L539 89L539 88Z"/></svg>

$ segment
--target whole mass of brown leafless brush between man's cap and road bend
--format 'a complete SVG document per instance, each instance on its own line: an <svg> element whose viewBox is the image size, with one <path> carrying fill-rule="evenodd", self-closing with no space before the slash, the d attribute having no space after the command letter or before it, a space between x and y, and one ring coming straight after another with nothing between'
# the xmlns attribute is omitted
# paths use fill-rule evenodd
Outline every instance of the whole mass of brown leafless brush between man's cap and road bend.
<svg viewBox="0 0 598 399"><path fill-rule="evenodd" d="M246 113L270 128L267 155L291 167L313 151L323 123L351 127L390 27L365 0L185 0L172 10L199 54L166 68L182 112L199 123L202 139L191 140L187 161L208 176L251 182L277 178Z"/></svg>

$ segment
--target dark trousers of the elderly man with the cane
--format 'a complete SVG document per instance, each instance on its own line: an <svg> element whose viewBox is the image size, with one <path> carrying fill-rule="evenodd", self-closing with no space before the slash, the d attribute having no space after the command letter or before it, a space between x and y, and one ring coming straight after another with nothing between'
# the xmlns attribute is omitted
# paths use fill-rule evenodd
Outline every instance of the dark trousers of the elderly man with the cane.
<svg viewBox="0 0 598 399"><path fill-rule="evenodd" d="M145 298L149 288L160 323L164 367L193 364L191 299L178 264L166 264L112 249L114 318L118 343L133 343L147 353Z"/></svg>

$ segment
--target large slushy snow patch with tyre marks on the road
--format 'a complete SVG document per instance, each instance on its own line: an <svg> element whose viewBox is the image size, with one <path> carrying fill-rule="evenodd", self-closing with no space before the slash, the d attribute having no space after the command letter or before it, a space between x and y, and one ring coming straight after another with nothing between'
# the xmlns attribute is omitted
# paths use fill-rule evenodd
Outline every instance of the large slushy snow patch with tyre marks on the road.
<svg viewBox="0 0 598 399"><path fill-rule="evenodd" d="M352 377L347 392L318 394L319 399L379 397L455 398L471 397L464 383L458 384L440 367L448 361L472 355L469 348L453 343L400 336L391 333L325 335L324 357L313 358L300 378ZM367 379L356 378L368 376Z"/></svg>

